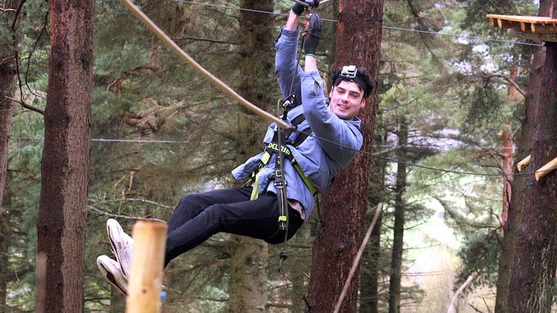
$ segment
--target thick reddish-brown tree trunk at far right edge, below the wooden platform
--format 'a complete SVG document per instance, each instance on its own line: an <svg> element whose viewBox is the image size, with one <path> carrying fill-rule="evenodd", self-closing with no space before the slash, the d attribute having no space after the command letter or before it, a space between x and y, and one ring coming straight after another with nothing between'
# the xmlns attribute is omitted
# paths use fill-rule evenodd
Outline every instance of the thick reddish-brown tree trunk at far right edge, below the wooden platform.
<svg viewBox="0 0 557 313"><path fill-rule="evenodd" d="M554 8L556 8L554 1ZM545 42L546 58L531 163L537 170L557 157L557 43ZM543 114L541 114L543 113ZM524 210L517 233L509 312L550 312L557 268L557 172L539 181L525 177Z"/></svg>

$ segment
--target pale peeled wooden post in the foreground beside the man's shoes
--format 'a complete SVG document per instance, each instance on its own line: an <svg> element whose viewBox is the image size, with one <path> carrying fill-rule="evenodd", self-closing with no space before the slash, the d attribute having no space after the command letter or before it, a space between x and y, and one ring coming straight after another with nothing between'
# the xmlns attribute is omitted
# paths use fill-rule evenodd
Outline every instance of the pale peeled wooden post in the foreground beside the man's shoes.
<svg viewBox="0 0 557 313"><path fill-rule="evenodd" d="M166 230L166 223L158 221L139 220L134 225L126 313L160 312Z"/></svg>

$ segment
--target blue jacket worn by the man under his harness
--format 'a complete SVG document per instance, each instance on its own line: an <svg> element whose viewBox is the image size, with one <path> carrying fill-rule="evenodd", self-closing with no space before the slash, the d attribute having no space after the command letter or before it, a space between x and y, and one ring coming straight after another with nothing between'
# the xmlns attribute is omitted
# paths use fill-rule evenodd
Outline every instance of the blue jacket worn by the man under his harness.
<svg viewBox="0 0 557 313"><path fill-rule="evenodd" d="M297 129L311 128L311 136L308 136L297 147L288 145L297 163L304 174L311 179L313 185L322 193L331 185L336 173L345 168L360 150L363 144L363 136L359 127L361 121L341 120L329 111L329 100L324 96L323 81L317 70L304 72L301 67L296 68L297 48L299 30L281 30L281 34L275 42L276 59L275 74L283 97L288 97L292 76L295 70L295 84L293 90L297 93L297 99L301 99L301 105L295 106L288 112L288 118L294 120L298 115L304 114L305 120L298 125ZM300 97L301 94L301 97ZM263 143L267 146L273 139L275 124L269 125ZM294 141L299 132L290 134L289 139ZM240 182L244 182L258 168L263 153L248 159L244 164L232 171L233 176ZM259 172L259 192L270 191L276 193L272 179L275 168L276 154L273 154L267 165ZM284 164L286 195L288 199L297 200L305 210L305 216L311 214L315 201L304 181L290 162ZM266 188L266 189L265 189Z"/></svg>

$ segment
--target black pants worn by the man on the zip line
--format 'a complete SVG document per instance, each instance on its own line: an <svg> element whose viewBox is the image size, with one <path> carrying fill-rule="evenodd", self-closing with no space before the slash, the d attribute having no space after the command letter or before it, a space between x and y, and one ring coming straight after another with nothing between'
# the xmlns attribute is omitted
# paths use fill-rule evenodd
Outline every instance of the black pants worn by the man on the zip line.
<svg viewBox="0 0 557 313"><path fill-rule="evenodd" d="M264 193L249 200L251 187L228 188L186 195L168 220L164 265L195 248L217 232L228 232L277 244L284 241L278 230L278 200ZM288 206L288 239L304 221Z"/></svg>

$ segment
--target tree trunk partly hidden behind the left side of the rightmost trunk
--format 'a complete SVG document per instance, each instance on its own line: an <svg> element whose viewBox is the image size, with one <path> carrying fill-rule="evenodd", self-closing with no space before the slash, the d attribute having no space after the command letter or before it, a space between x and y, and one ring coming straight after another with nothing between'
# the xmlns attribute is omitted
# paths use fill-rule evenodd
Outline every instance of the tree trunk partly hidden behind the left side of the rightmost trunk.
<svg viewBox="0 0 557 313"><path fill-rule="evenodd" d="M540 10L540 16L542 16L541 12ZM540 47L532 59L528 91L524 100L525 115L522 120L520 137L516 143L518 161L524 159L531 152L533 131L538 113L536 105L538 104L538 95L541 87L544 56L545 48ZM533 167L529 166L526 170L531 171ZM515 169L515 173L517 172L518 170ZM516 234L520 227L522 207L524 207L524 175L517 175L512 180L507 220L505 225L503 225L503 240L501 243L501 255L499 256L499 275L497 275L496 313L509 311L510 276L512 266L515 263Z"/></svg>

